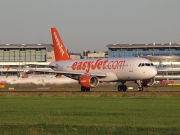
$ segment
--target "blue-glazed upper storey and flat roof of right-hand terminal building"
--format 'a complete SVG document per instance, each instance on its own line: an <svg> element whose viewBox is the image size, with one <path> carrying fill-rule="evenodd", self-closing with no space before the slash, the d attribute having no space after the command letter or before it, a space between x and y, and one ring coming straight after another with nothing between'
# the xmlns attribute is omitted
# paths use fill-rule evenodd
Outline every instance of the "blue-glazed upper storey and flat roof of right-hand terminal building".
<svg viewBox="0 0 180 135"><path fill-rule="evenodd" d="M180 44L110 44L109 57L180 56Z"/></svg>

